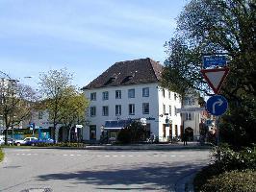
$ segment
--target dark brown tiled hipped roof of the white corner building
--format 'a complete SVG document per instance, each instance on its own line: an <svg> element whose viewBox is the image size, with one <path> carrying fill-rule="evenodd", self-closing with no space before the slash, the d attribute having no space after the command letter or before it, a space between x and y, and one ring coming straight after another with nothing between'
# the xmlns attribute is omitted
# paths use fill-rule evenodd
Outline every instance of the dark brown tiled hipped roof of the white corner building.
<svg viewBox="0 0 256 192"><path fill-rule="evenodd" d="M110 68L83 89L127 84L158 83L163 66L149 58L115 62Z"/></svg>

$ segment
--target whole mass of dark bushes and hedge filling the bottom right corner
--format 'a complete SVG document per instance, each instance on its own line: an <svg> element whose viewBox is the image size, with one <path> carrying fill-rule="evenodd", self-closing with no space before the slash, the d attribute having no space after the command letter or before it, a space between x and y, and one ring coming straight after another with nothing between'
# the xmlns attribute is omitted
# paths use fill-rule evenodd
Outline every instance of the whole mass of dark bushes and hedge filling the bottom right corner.
<svg viewBox="0 0 256 192"><path fill-rule="evenodd" d="M220 161L217 160L217 150L220 152ZM223 145L215 149L213 156L216 157L215 162L195 176L195 191L256 191L255 147L235 152Z"/></svg>

